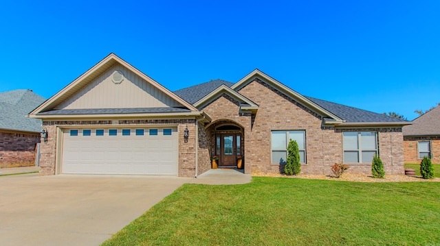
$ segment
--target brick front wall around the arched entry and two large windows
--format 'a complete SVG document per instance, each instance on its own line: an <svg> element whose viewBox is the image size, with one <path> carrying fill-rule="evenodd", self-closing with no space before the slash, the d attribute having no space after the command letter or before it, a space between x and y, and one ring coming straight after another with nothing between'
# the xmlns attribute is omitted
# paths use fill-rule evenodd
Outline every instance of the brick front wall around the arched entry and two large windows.
<svg viewBox="0 0 440 246"><path fill-rule="evenodd" d="M206 136L212 139L211 156L214 149L212 125L219 121L230 121L243 127L245 173L283 172L282 164L272 164L272 131L305 130L307 163L302 165L302 173L331 174L331 165L343 162L342 132L368 131L377 132L379 154L386 173L404 174L401 127L322 127L320 115L259 79L241 88L239 93L259 105L256 114L240 113L238 103L227 95L222 95L202 110L212 117L212 122L205 126ZM371 163L349 166L348 173L371 173Z"/></svg>

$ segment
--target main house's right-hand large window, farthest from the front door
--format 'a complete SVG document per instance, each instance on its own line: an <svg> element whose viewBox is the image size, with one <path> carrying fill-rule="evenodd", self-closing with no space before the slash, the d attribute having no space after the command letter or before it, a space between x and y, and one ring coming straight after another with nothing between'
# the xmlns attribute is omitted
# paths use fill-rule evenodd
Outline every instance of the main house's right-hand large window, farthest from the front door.
<svg viewBox="0 0 440 246"><path fill-rule="evenodd" d="M344 162L370 163L377 154L376 132L344 132Z"/></svg>

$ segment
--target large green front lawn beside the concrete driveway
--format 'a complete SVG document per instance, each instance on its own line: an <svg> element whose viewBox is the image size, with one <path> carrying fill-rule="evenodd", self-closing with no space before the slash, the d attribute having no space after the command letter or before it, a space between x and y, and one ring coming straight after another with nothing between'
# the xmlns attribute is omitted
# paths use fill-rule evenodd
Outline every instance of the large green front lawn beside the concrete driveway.
<svg viewBox="0 0 440 246"><path fill-rule="evenodd" d="M434 245L440 183L185 184L102 245Z"/></svg>

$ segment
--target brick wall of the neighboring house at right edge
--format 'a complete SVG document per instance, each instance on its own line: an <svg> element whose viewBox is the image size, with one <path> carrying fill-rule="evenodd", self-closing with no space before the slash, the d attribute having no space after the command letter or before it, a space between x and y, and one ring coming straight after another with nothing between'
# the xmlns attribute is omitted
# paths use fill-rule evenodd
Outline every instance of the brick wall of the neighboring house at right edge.
<svg viewBox="0 0 440 246"><path fill-rule="evenodd" d="M440 164L440 136L404 136L404 161L405 163L420 163L417 143L430 141L431 161Z"/></svg>

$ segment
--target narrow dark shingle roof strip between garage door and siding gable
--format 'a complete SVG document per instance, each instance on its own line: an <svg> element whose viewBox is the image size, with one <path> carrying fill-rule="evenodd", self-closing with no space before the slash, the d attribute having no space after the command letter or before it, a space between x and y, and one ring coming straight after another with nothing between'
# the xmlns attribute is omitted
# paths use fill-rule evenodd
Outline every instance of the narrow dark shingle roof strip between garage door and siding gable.
<svg viewBox="0 0 440 246"><path fill-rule="evenodd" d="M91 108L78 110L50 110L41 114L137 114L156 112L191 112L186 108Z"/></svg>

